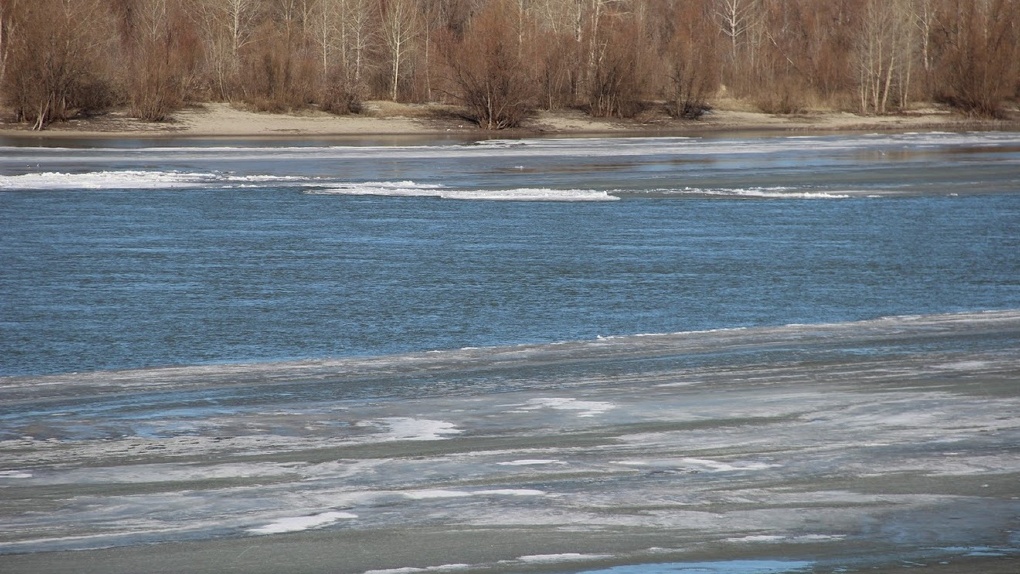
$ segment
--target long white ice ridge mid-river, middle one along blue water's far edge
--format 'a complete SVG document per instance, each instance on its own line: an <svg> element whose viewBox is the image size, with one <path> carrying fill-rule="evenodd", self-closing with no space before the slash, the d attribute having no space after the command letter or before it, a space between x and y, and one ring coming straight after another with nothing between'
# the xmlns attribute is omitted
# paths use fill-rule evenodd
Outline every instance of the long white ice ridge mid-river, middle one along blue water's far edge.
<svg viewBox="0 0 1020 574"><path fill-rule="evenodd" d="M311 195L429 197L471 201L617 201L620 198L596 190L553 190L518 188L511 190L453 190L438 184L414 181L366 181L312 188Z"/></svg>

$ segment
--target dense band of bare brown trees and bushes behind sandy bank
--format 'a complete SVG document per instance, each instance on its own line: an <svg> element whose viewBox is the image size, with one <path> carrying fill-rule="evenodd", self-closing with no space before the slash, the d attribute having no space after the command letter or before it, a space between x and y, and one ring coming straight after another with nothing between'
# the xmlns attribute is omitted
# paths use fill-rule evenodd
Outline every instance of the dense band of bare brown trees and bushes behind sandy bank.
<svg viewBox="0 0 1020 574"><path fill-rule="evenodd" d="M384 98L501 128L537 108L697 117L720 93L997 115L1020 95L1020 0L0 0L0 91L37 128Z"/></svg>

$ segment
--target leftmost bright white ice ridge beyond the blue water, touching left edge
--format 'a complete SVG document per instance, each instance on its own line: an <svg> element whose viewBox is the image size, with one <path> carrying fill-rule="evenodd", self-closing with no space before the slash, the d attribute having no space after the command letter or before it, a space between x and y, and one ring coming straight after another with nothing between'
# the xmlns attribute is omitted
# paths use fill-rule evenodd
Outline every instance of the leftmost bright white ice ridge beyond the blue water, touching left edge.
<svg viewBox="0 0 1020 574"><path fill-rule="evenodd" d="M210 185L251 186L307 181L287 175L236 175L216 172L114 170L64 173L47 171L0 175L0 190L165 190Z"/></svg>

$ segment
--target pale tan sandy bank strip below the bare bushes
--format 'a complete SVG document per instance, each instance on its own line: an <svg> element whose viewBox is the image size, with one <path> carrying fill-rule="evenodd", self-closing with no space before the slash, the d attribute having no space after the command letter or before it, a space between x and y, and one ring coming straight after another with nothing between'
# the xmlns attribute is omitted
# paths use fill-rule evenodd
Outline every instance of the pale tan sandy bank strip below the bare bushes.
<svg viewBox="0 0 1020 574"><path fill-rule="evenodd" d="M542 111L520 128L500 132L478 129L448 106L422 106L392 102L366 102L357 115L336 116L317 111L263 113L226 103L195 105L171 121L146 122L123 111L55 123L42 132L26 123L0 122L0 138L49 141L85 139L217 139L217 138L365 138L464 137L519 138L570 136L687 136L712 133L860 133L911 131L1020 131L1020 120L976 119L948 108L922 108L889 115L858 115L837 111L812 111L773 115L729 102L696 120L670 118L650 110L638 118L593 118L579 110Z"/></svg>

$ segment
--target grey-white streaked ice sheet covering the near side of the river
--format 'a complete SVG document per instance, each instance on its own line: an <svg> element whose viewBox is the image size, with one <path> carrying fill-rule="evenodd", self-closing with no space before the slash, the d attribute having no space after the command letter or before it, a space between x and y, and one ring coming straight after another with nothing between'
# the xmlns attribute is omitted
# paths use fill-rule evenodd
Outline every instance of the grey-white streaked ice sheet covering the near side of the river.
<svg viewBox="0 0 1020 574"><path fill-rule="evenodd" d="M1004 311L7 377L0 567L994 571L1018 342Z"/></svg>

